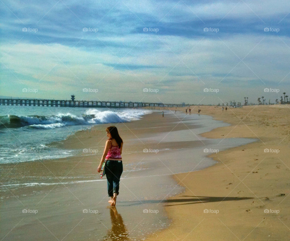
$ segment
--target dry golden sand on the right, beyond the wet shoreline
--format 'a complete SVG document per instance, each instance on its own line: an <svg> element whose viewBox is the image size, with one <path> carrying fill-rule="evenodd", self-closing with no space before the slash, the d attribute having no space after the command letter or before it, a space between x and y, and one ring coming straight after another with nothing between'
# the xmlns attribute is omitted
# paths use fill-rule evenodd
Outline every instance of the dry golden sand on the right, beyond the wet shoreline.
<svg viewBox="0 0 290 241"><path fill-rule="evenodd" d="M165 207L172 224L146 240L290 240L289 106L200 109L231 124L202 136L259 141L209 155L219 162L209 168L174 175L186 191Z"/></svg>

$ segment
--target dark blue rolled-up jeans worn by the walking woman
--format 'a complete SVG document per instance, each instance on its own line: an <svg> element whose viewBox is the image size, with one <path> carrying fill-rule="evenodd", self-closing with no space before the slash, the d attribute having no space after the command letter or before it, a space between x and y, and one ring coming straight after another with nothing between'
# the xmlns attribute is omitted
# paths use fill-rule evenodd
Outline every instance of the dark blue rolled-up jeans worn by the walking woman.
<svg viewBox="0 0 290 241"><path fill-rule="evenodd" d="M108 160L106 161L105 168L109 197L113 197L113 193L117 193L117 195L119 195L119 182L123 172L122 161L119 162Z"/></svg>

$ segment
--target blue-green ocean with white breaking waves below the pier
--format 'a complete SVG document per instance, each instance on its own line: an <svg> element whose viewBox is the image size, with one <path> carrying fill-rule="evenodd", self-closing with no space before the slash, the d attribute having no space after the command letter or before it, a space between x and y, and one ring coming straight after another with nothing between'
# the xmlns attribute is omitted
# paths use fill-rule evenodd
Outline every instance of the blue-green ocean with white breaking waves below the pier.
<svg viewBox="0 0 290 241"><path fill-rule="evenodd" d="M93 125L138 120L144 109L0 106L0 164L58 159L79 150L49 146Z"/></svg>

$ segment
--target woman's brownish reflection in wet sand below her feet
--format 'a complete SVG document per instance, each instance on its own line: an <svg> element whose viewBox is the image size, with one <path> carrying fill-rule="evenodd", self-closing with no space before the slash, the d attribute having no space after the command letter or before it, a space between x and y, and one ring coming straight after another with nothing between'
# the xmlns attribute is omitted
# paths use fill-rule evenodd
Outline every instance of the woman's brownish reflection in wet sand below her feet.
<svg viewBox="0 0 290 241"><path fill-rule="evenodd" d="M128 231L116 207L110 207L112 229L108 231L108 240L129 240Z"/></svg>

